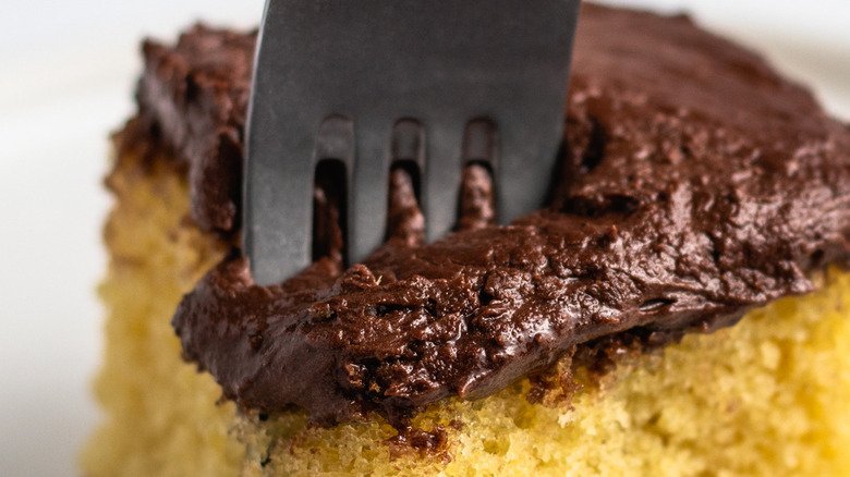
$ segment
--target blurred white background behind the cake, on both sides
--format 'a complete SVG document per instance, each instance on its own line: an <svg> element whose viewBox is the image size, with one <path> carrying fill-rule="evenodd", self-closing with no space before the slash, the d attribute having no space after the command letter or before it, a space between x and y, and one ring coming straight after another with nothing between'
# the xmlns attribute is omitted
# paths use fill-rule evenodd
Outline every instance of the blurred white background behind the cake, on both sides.
<svg viewBox="0 0 850 477"><path fill-rule="evenodd" d="M195 20L250 27L262 0L3 0L0 5L0 475L75 476L96 425L96 283L107 135L132 113L138 40ZM690 10L850 119L850 2L642 0ZM531 2L530 2L531 4Z"/></svg>

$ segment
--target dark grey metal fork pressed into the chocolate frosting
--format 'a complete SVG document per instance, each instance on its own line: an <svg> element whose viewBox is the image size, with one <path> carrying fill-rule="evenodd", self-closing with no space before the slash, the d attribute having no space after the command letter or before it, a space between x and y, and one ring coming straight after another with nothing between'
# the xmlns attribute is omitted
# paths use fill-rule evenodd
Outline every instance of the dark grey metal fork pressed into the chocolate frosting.
<svg viewBox="0 0 850 477"><path fill-rule="evenodd" d="M393 156L421 168L428 241L452 229L465 161L489 163L499 222L539 208L562 136L579 3L268 0L244 176L254 280L279 283L309 265L321 159L345 164L353 262L384 240Z"/></svg>

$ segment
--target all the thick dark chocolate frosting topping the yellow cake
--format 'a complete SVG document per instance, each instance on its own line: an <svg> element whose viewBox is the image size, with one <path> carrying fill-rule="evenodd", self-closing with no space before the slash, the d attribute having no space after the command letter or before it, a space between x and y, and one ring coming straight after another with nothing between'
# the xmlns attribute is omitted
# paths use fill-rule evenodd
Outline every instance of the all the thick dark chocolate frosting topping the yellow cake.
<svg viewBox="0 0 850 477"><path fill-rule="evenodd" d="M687 17L585 4L579 25L561 173L533 185L554 186L550 207L493 225L467 170L463 228L423 245L393 174L392 238L364 264L325 258L263 288L234 249L177 310L185 357L244 408L398 425L606 337L652 345L731 325L847 261L847 126ZM198 26L145 47L141 117L182 151L207 229L239 223L254 38Z"/></svg>

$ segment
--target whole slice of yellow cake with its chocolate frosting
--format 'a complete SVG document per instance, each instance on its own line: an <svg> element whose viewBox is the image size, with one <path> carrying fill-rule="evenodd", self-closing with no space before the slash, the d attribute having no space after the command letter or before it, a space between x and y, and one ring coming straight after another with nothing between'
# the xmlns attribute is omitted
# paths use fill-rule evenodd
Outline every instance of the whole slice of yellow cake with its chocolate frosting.
<svg viewBox="0 0 850 477"><path fill-rule="evenodd" d="M146 42L114 136L85 475L847 475L850 130L687 17L585 4L550 207L253 284L239 250L255 35Z"/></svg>

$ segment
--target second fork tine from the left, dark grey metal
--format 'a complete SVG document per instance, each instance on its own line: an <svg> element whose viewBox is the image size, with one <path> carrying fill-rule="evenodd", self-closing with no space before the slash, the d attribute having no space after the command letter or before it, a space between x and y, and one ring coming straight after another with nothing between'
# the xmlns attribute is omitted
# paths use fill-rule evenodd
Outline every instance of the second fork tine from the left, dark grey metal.
<svg viewBox="0 0 850 477"><path fill-rule="evenodd" d="M362 118L362 119L361 119ZM392 121L354 119L356 158L349 208L349 258L362 261L384 243Z"/></svg>

